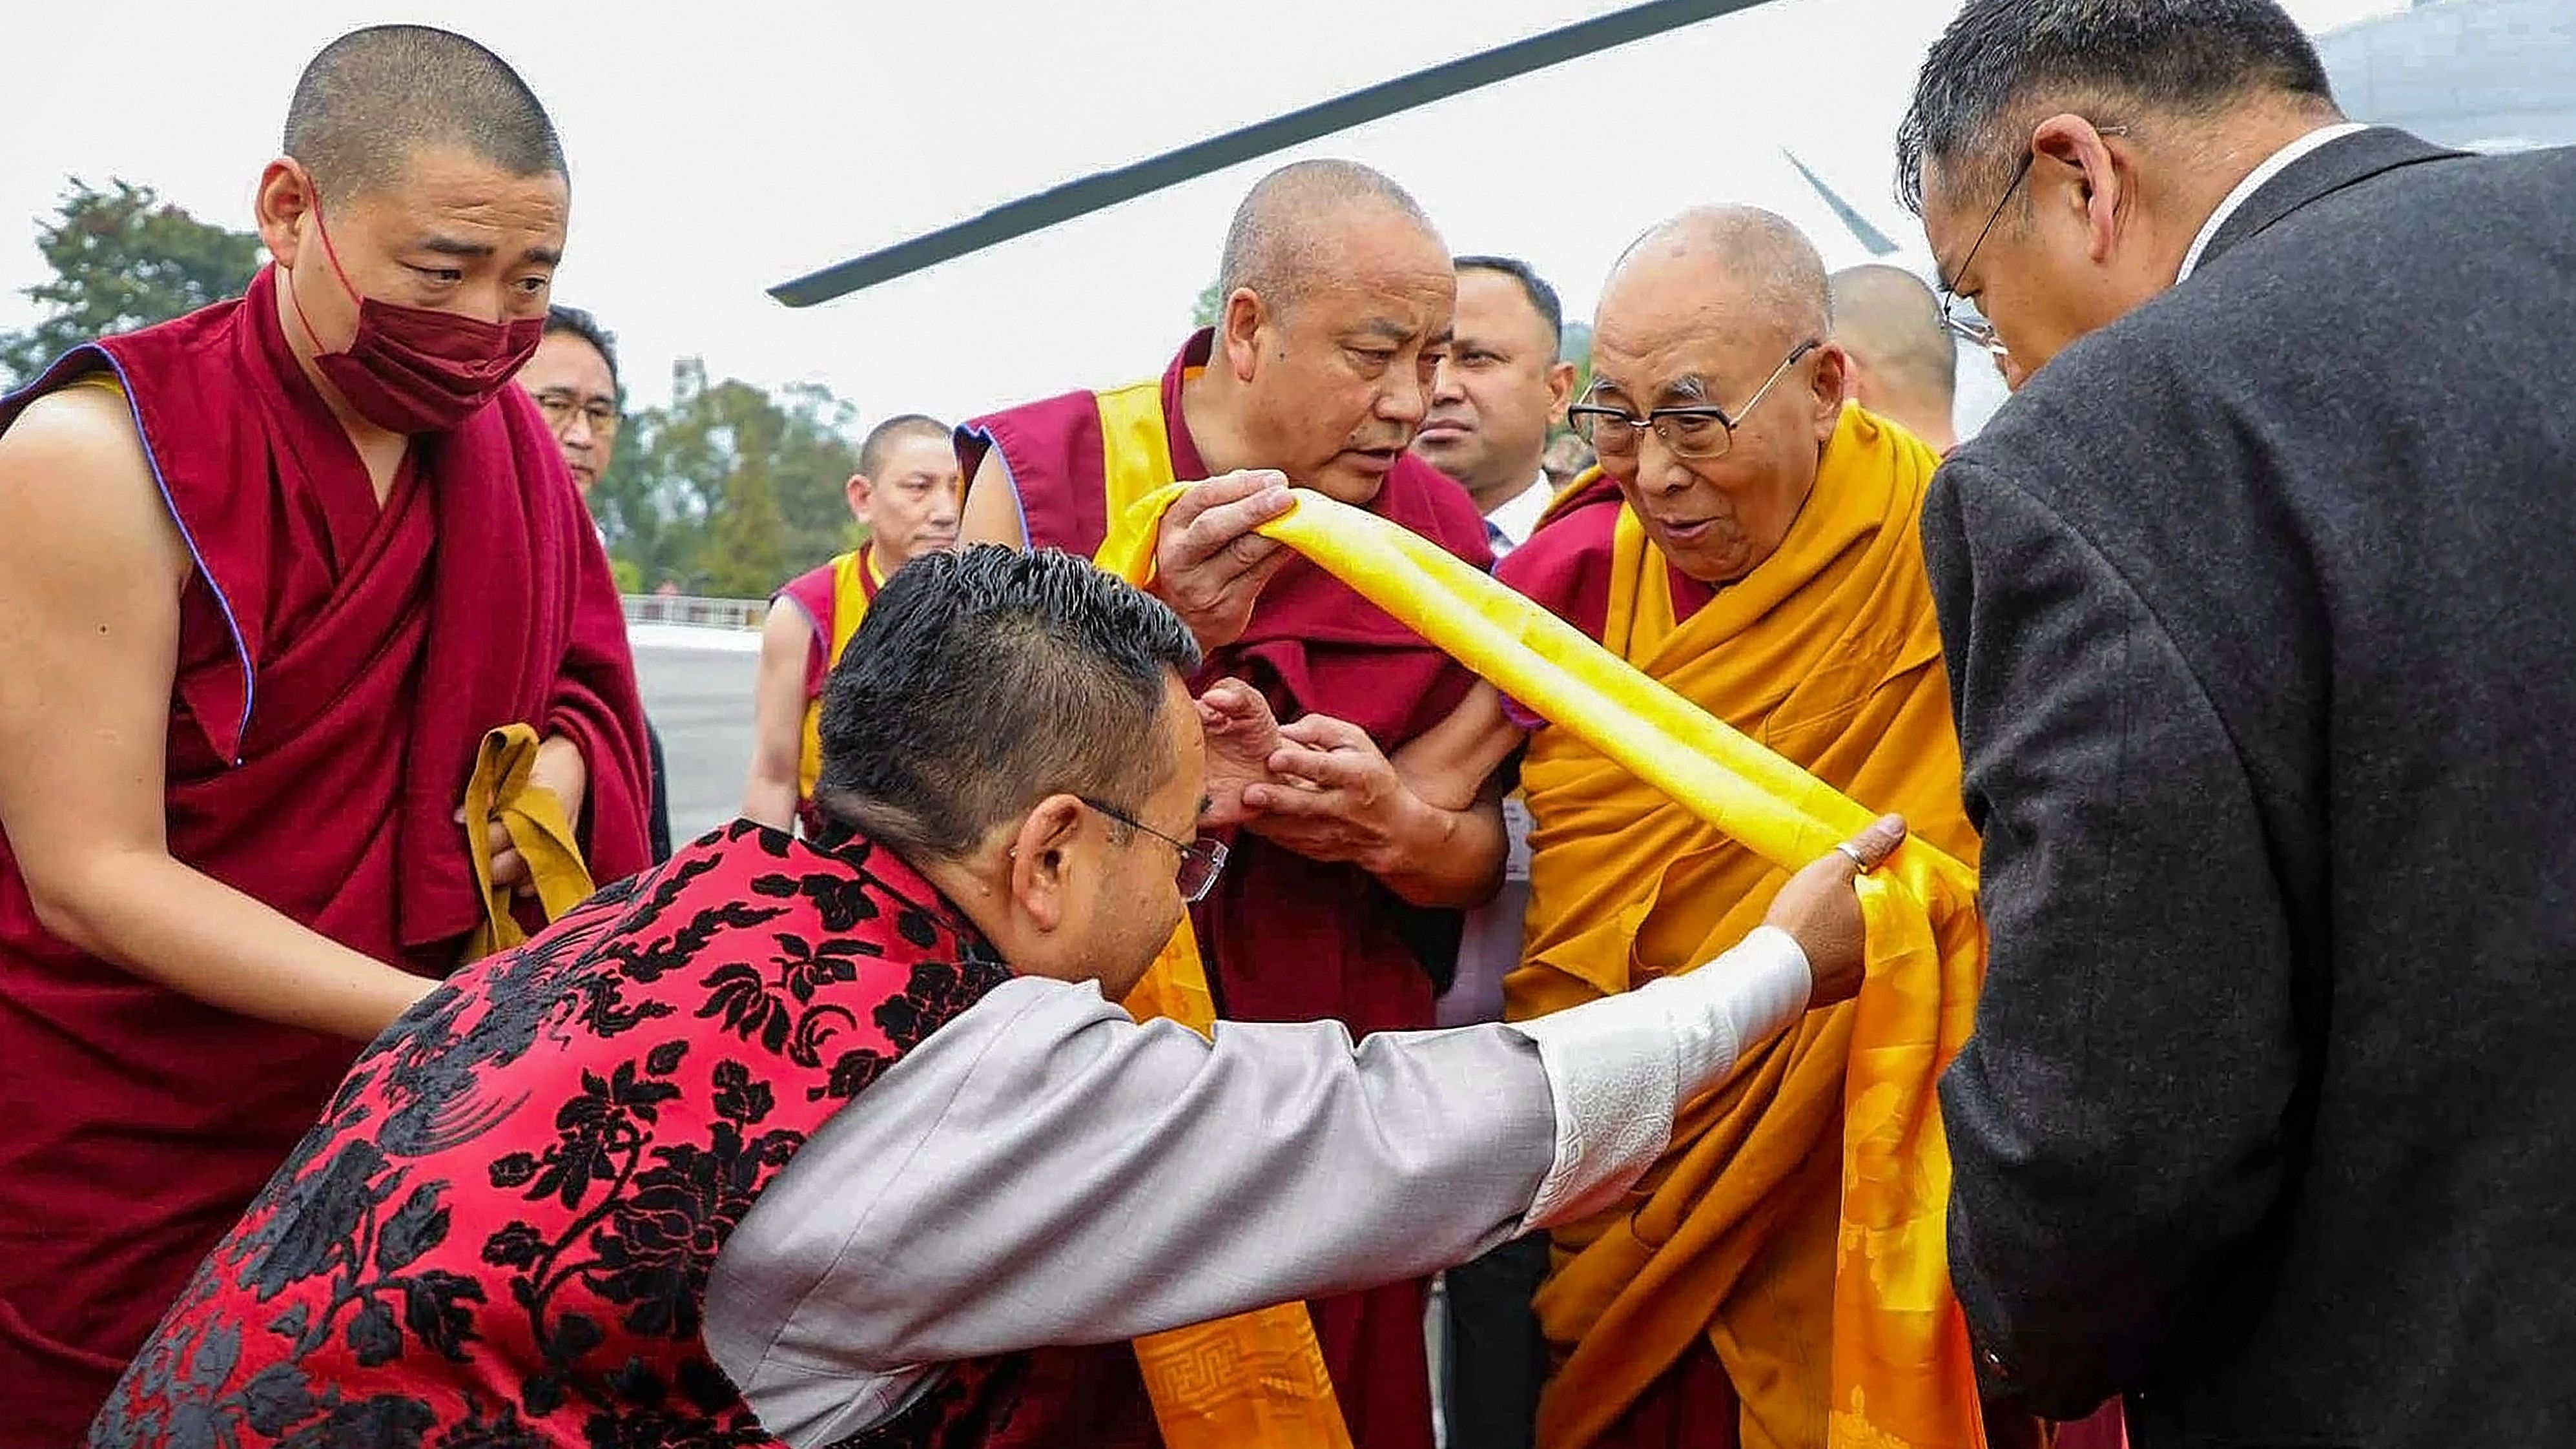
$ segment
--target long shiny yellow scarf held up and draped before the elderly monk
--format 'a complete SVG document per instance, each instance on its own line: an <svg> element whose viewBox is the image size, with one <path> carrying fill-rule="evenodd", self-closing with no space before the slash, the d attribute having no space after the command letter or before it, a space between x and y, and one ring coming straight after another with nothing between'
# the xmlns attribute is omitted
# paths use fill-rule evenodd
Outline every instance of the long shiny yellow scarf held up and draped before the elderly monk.
<svg viewBox="0 0 2576 1449"><path fill-rule="evenodd" d="M1154 535L1180 492L1167 486L1118 515L1100 564L1149 584ZM1819 860L1873 818L1399 525L1298 492L1296 507L1262 533L1780 870ZM1942 1241L1950 1158L1935 1099L1984 975L1976 872L1909 839L1860 880L1860 903L1870 963L1850 1009L1829 1444L1984 1449L1965 1320L1950 1297ZM1167 952L1141 991L1203 996L1195 968L1195 957Z"/></svg>

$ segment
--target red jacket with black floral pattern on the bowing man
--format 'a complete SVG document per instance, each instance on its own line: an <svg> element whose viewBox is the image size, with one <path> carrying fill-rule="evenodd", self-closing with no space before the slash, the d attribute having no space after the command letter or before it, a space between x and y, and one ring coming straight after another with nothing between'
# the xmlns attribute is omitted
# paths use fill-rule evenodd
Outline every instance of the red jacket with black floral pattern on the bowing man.
<svg viewBox="0 0 2576 1449"><path fill-rule="evenodd" d="M358 1055L90 1444L773 1444L706 1354L716 1253L809 1132L1005 978L866 842L744 821L683 849ZM971 1441L1010 1382L961 1367L860 1441Z"/></svg>

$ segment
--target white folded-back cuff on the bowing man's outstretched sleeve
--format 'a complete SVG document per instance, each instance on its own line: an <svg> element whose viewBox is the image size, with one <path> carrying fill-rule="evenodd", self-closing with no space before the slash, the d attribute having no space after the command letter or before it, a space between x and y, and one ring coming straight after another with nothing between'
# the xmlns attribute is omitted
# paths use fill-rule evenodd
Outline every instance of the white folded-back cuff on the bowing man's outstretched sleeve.
<svg viewBox="0 0 2576 1449"><path fill-rule="evenodd" d="M1795 937L1757 927L1700 970L1515 1024L1556 1096L1556 1161L1525 1225L1571 1223L1628 1192L1672 1143L1680 1104L1795 1022L1811 986Z"/></svg>

